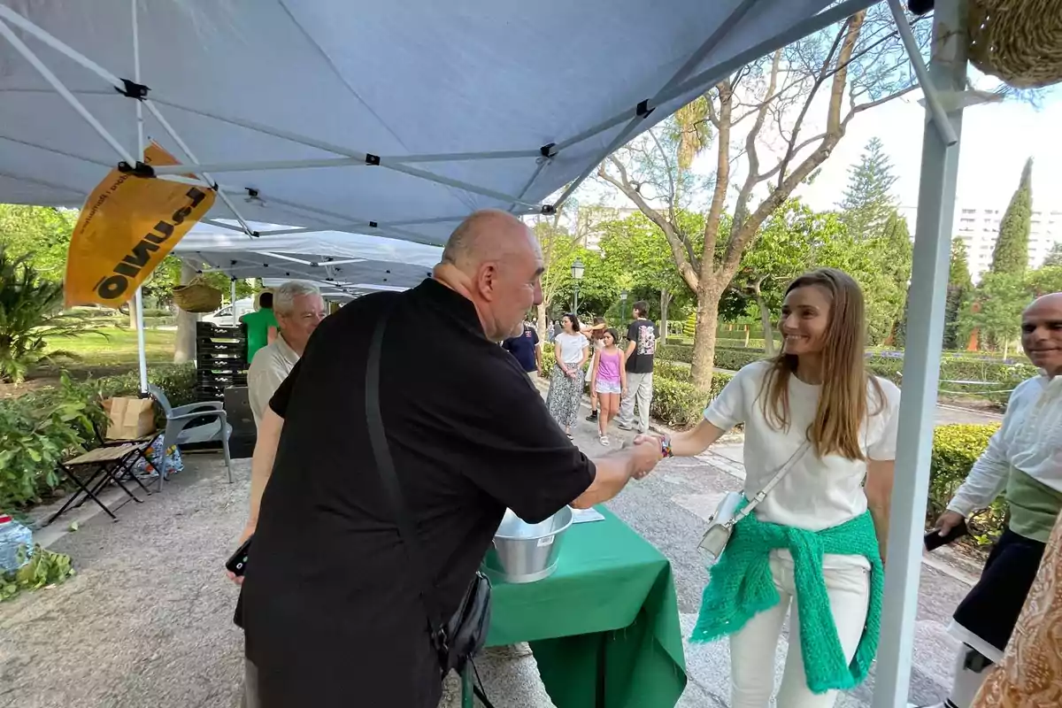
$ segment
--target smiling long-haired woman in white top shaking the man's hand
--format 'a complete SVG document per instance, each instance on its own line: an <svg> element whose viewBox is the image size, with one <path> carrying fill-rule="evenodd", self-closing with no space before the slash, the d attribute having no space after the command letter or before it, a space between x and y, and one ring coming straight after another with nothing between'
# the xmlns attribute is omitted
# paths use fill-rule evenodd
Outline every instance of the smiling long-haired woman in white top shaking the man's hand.
<svg viewBox="0 0 1062 708"><path fill-rule="evenodd" d="M777 357L743 367L696 428L661 438L661 446L665 456L692 456L744 424L746 498L788 470L734 528L705 589L693 639L730 634L730 705L767 708L774 687L765 676L773 675L792 605L777 705L828 708L837 694L832 689L862 680L876 650L900 390L866 372L863 298L846 274L822 269L796 278L786 291L780 329L785 344ZM742 597L749 583L766 588L759 606ZM822 604L805 605L810 599ZM724 608L735 611L721 629L710 628ZM809 687L809 677L822 674L827 645L836 647L832 666L851 664L852 673L835 671Z"/></svg>

